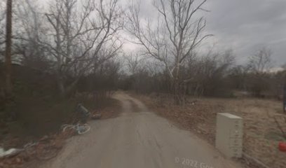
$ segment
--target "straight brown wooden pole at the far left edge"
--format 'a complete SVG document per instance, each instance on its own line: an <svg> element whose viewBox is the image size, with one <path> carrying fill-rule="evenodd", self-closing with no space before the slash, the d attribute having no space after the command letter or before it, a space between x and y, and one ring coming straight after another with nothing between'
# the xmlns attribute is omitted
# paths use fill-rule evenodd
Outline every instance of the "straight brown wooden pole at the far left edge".
<svg viewBox="0 0 286 168"><path fill-rule="evenodd" d="M7 13L6 13L6 57L5 57L5 93L6 99L12 97L12 59L11 59L11 45L12 45L12 0L7 0Z"/></svg>

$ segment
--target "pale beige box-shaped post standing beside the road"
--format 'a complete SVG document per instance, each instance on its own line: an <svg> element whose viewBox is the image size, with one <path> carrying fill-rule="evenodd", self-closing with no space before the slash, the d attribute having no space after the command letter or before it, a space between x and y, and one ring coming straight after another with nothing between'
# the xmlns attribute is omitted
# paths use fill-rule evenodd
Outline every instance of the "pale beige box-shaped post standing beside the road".
<svg viewBox="0 0 286 168"><path fill-rule="evenodd" d="M243 118L230 113L217 113L215 146L227 158L243 155Z"/></svg>

